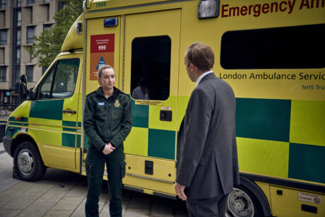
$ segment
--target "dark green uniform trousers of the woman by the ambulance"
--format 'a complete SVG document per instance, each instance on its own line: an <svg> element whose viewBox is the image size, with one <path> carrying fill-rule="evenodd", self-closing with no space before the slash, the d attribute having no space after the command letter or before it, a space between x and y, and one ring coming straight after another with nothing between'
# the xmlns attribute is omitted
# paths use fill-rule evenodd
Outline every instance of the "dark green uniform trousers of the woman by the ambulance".
<svg viewBox="0 0 325 217"><path fill-rule="evenodd" d="M122 178L125 175L123 148L119 147L105 156L90 147L85 159L88 194L85 202L85 216L99 216L98 201L102 189L105 163L107 168L108 189L110 191L110 216L122 216Z"/></svg>

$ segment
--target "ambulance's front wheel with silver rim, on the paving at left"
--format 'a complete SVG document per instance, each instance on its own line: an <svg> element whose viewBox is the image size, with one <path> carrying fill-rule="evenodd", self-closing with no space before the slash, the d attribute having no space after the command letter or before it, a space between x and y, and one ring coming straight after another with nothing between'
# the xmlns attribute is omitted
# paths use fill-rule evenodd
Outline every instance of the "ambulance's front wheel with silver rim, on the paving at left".
<svg viewBox="0 0 325 217"><path fill-rule="evenodd" d="M20 143L16 148L13 156L13 166L18 178L28 182L40 180L47 169L40 152L29 141Z"/></svg>

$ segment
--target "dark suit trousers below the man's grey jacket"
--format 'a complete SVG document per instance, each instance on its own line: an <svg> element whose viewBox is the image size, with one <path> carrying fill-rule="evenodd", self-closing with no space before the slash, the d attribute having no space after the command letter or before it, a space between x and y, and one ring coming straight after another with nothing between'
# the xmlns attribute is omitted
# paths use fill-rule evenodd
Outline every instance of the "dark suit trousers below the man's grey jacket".
<svg viewBox="0 0 325 217"><path fill-rule="evenodd" d="M227 211L228 195L225 194L208 199L187 199L189 217L224 217Z"/></svg>

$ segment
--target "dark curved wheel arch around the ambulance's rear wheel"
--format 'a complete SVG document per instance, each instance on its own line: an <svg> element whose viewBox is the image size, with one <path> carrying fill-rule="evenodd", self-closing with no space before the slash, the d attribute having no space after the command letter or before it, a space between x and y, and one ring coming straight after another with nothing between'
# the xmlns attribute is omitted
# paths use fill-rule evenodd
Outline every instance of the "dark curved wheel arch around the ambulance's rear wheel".
<svg viewBox="0 0 325 217"><path fill-rule="evenodd" d="M242 184L244 187L247 187L247 189L249 189L249 191L251 191L255 195L255 197L259 201L259 204L261 205L261 209L264 213L264 216L272 216L268 199L266 198L264 192L259 188L259 186L243 176L240 176L240 184Z"/></svg>

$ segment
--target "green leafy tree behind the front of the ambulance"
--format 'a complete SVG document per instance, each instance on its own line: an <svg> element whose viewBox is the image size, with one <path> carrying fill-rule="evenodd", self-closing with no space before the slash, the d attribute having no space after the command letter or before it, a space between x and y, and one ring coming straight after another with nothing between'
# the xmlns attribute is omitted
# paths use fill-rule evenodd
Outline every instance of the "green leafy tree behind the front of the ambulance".
<svg viewBox="0 0 325 217"><path fill-rule="evenodd" d="M55 25L34 37L34 43L26 47L32 59L38 58L37 66L48 67L57 54L69 32L71 25L83 12L83 0L61 0L64 7L55 13Z"/></svg>

